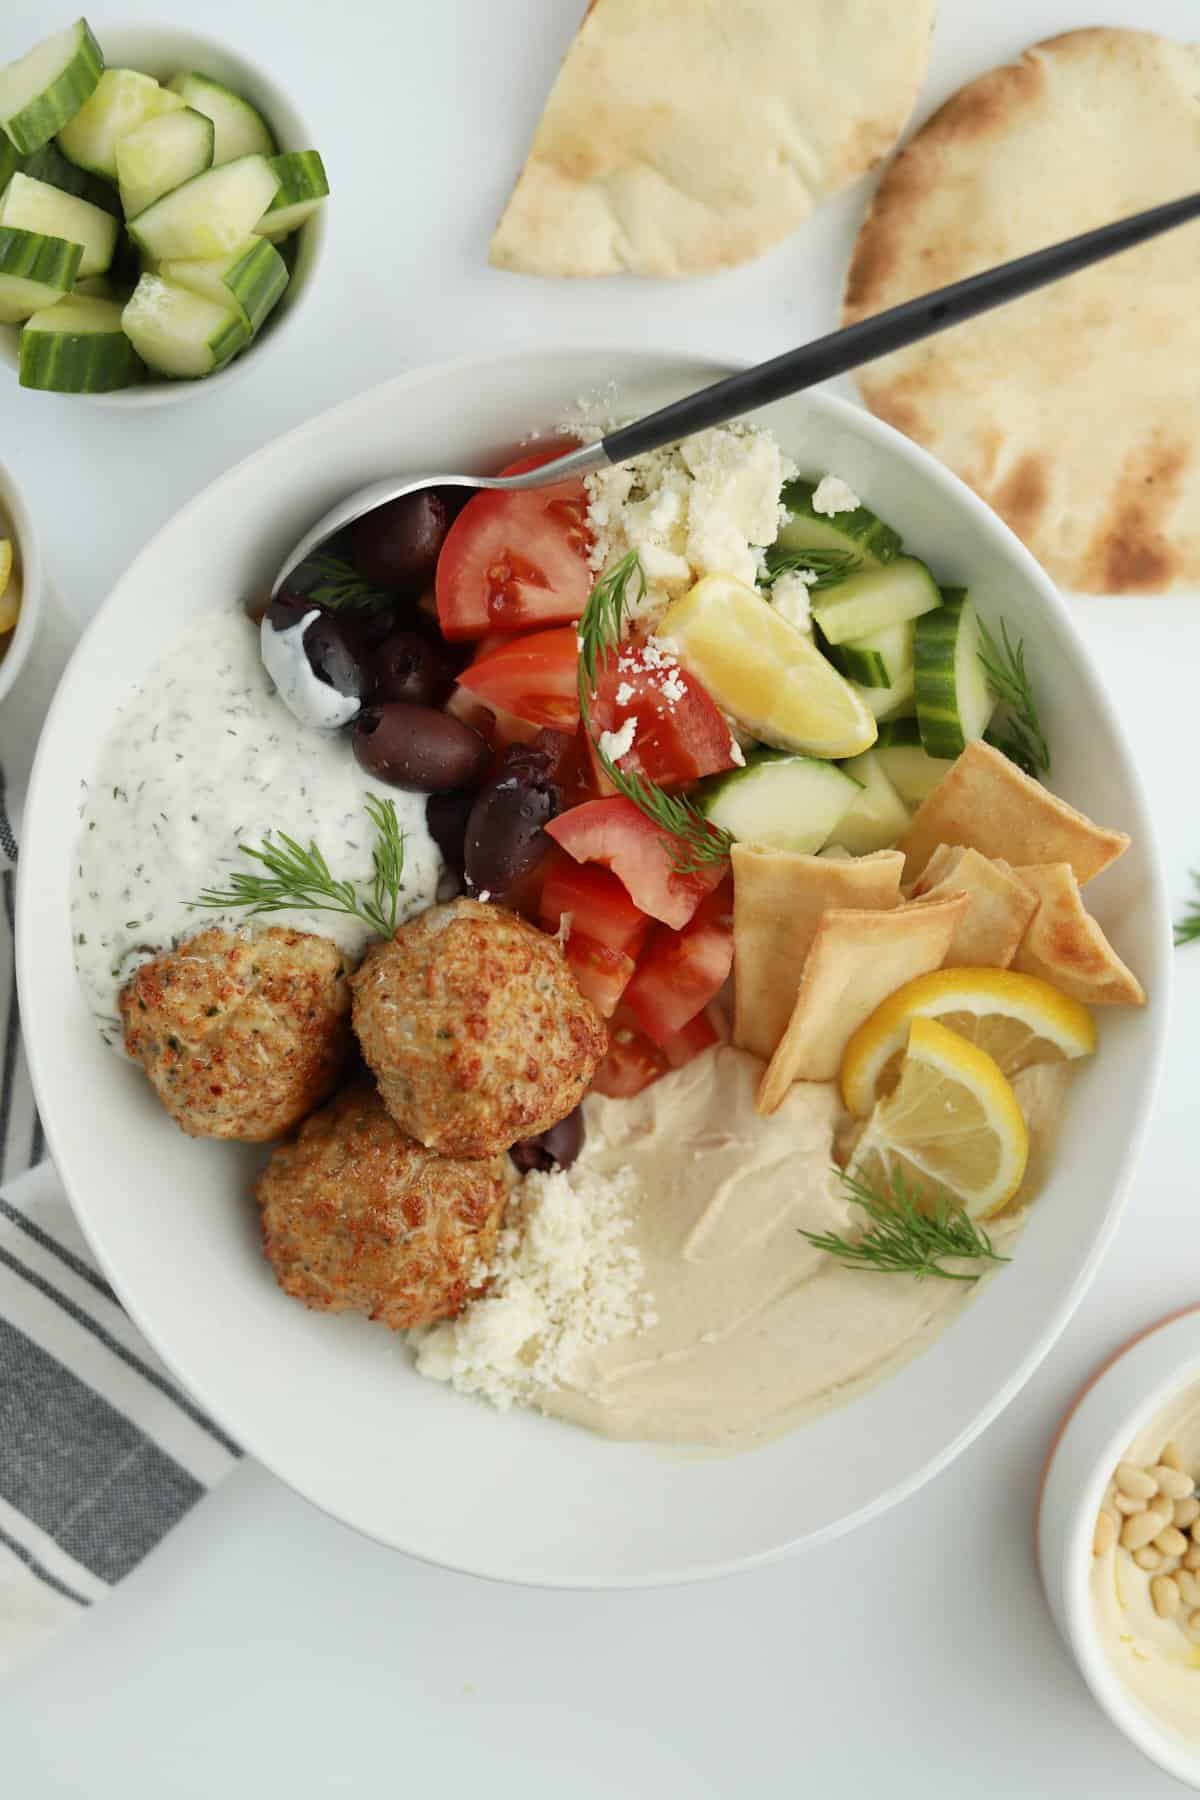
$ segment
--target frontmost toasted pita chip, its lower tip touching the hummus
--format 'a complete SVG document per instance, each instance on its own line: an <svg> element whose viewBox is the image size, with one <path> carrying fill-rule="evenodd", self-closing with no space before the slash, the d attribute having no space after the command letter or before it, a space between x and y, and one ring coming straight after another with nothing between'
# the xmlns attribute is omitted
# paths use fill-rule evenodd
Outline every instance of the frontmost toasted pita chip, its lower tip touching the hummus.
<svg viewBox="0 0 1200 1800"><path fill-rule="evenodd" d="M774 1112L792 1082L831 1082L851 1037L905 981L941 968L966 895L909 900L891 913L826 913L804 961L788 1030L756 1098Z"/></svg>

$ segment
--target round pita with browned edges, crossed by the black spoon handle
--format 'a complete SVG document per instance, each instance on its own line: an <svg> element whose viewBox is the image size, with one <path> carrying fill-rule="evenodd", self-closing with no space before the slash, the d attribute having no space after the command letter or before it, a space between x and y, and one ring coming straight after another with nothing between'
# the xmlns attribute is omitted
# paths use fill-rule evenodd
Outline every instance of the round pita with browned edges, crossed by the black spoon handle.
<svg viewBox="0 0 1200 1800"><path fill-rule="evenodd" d="M891 166L844 319L1200 187L1200 47L1070 31L961 88ZM1067 589L1200 581L1200 223L871 364L867 405Z"/></svg>

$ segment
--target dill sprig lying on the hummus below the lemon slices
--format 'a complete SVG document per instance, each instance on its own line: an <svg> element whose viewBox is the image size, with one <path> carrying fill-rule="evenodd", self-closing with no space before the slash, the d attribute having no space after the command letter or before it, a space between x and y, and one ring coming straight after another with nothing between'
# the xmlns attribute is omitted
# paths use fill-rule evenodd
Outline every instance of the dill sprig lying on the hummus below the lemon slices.
<svg viewBox="0 0 1200 1800"><path fill-rule="evenodd" d="M914 1274L918 1282L930 1274L943 1282L977 1282L982 1269L946 1269L945 1260L1009 1262L945 1188L925 1204L905 1184L898 1168L892 1170L891 1193L880 1193L849 1170L838 1174L871 1228L856 1238L837 1231L801 1231L801 1237L847 1267L874 1274Z"/></svg>

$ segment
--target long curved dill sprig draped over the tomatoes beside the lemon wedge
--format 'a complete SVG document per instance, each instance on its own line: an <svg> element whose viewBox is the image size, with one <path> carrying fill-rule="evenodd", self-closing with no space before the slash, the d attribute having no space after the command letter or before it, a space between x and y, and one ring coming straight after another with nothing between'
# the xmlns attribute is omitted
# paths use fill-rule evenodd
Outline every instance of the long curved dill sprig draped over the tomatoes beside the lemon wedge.
<svg viewBox="0 0 1200 1800"><path fill-rule="evenodd" d="M604 774L639 812L646 814L662 832L676 839L675 868L680 875L694 875L711 862L723 862L729 857L732 837L720 826L711 824L703 814L682 794L667 794L646 776L617 769L613 760L599 747L592 731L592 697L601 670L608 668L608 657L621 643L626 608L630 605L630 581L637 578L633 603L646 592L646 571L637 551L626 551L621 562L608 569L588 596L583 617L578 626L579 639L579 718L583 729L596 747L596 754Z"/></svg>

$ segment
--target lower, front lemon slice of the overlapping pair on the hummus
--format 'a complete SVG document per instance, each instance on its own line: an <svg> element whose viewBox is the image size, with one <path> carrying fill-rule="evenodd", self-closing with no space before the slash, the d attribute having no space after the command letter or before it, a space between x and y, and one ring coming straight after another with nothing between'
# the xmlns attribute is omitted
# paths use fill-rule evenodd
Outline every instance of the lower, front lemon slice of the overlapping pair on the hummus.
<svg viewBox="0 0 1200 1800"><path fill-rule="evenodd" d="M896 1174L916 1193L955 1195L988 1219L1016 1193L1029 1134L993 1058L936 1019L914 1019L894 1093L855 1147L855 1175L880 1193Z"/></svg>

